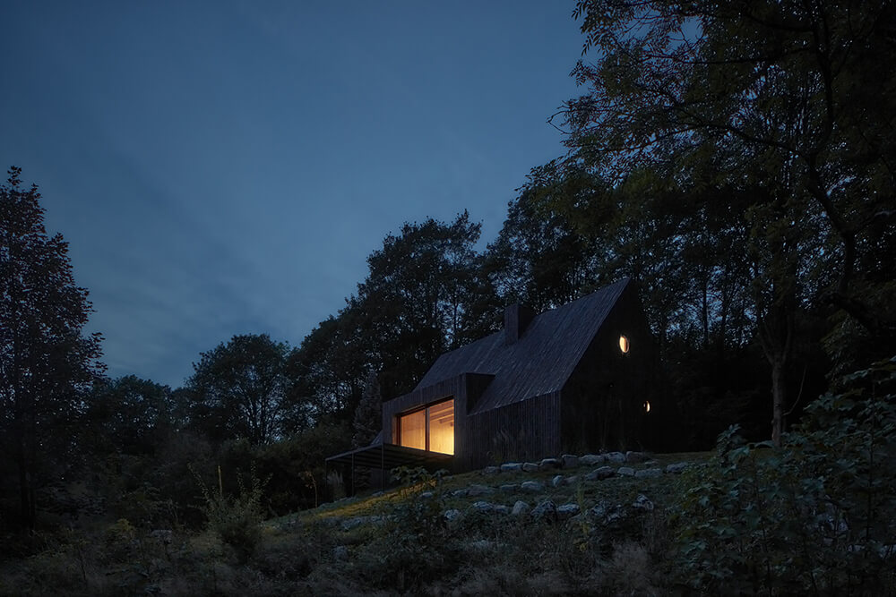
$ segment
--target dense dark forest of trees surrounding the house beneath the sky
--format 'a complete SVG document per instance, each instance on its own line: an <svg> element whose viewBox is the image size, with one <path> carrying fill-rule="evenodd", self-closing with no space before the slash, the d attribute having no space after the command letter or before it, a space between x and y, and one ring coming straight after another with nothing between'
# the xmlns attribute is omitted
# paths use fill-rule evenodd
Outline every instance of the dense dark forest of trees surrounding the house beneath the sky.
<svg viewBox="0 0 896 597"><path fill-rule="evenodd" d="M202 525L202 487L261 479L268 516L332 499L325 456L435 357L621 277L661 356L677 450L782 438L896 354L896 5L581 0L582 95L551 116L494 239L405 223L290 345L222 338L182 388L110 379L36 186L0 187L0 557L85 518ZM27 172L25 173L27 175ZM522 175L522 173L521 173ZM223 473L221 473L223 472Z"/></svg>

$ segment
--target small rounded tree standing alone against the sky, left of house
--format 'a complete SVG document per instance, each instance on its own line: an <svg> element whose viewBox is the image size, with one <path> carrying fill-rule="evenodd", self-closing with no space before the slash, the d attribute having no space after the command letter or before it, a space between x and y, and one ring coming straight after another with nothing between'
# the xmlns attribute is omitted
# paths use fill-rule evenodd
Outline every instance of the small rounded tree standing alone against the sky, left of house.
<svg viewBox="0 0 896 597"><path fill-rule="evenodd" d="M198 424L219 441L245 438L263 444L279 438L289 409L288 351L288 345L267 334L250 334L200 354L187 380Z"/></svg>

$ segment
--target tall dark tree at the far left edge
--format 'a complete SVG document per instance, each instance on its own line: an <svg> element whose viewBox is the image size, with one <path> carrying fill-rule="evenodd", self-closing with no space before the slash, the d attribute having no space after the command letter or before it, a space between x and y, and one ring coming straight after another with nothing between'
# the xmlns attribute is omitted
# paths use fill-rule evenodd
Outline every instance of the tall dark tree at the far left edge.
<svg viewBox="0 0 896 597"><path fill-rule="evenodd" d="M68 244L48 236L38 187L21 168L0 186L0 445L18 470L22 527L35 525L35 489L82 408L80 393L102 371L99 334L76 286Z"/></svg>

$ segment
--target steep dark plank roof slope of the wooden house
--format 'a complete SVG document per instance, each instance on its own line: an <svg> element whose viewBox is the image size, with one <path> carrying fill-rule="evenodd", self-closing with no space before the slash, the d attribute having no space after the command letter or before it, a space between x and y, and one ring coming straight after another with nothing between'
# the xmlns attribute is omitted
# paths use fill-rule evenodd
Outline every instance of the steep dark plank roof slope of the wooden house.
<svg viewBox="0 0 896 597"><path fill-rule="evenodd" d="M622 295L629 279L545 311L516 342L504 330L440 356L415 391L461 373L495 376L470 414L559 391Z"/></svg>

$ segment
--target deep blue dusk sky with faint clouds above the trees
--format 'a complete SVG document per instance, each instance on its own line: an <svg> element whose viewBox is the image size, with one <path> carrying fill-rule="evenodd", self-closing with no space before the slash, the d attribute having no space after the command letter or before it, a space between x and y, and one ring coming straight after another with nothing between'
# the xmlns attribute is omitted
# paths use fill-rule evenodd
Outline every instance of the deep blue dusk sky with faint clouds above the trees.
<svg viewBox="0 0 896 597"><path fill-rule="evenodd" d="M577 90L574 2L10 2L0 162L37 183L108 374L298 345L405 221L482 246ZM4 176L5 178L5 176Z"/></svg>

